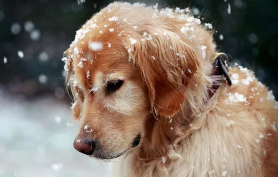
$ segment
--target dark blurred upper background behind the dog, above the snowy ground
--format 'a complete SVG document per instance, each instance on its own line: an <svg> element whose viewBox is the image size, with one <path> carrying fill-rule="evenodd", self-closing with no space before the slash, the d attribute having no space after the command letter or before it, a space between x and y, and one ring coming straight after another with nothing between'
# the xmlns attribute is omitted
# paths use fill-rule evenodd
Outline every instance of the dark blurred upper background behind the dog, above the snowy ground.
<svg viewBox="0 0 278 177"><path fill-rule="evenodd" d="M0 87L13 95L27 98L52 93L58 99L67 98L64 92L64 63L61 61L63 52L74 39L75 31L112 2L0 1ZM230 54L233 61L251 67L259 80L278 96L278 1L127 2L159 3L162 8L194 8L196 16L204 17L203 22L212 23L217 31L215 41L218 49ZM227 13L228 3L231 14ZM30 24L33 24L33 28L30 28ZM220 34L223 34L223 40L219 39ZM23 58L18 57L18 51L24 53ZM6 64L4 56L8 59ZM39 81L44 77L42 75L47 80Z"/></svg>

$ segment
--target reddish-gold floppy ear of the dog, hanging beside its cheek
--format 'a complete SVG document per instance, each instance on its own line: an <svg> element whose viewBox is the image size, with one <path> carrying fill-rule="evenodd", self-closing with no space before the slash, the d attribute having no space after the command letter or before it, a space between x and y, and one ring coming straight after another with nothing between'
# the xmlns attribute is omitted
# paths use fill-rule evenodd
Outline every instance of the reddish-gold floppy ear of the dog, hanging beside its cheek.
<svg viewBox="0 0 278 177"><path fill-rule="evenodd" d="M185 89L199 68L197 55L186 41L170 31L143 36L145 40L133 41L128 49L130 59L141 69L155 113L173 116L186 99ZM132 43L133 38L129 40Z"/></svg>

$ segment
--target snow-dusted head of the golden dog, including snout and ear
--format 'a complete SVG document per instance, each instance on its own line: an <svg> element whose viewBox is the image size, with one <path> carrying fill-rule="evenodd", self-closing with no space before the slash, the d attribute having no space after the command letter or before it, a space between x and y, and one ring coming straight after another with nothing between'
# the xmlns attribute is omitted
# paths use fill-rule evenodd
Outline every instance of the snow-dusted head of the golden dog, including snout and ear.
<svg viewBox="0 0 278 177"><path fill-rule="evenodd" d="M210 38L199 19L140 4L114 3L88 20L64 58L80 120L75 149L111 159L147 141L165 144L178 126L166 119L200 80L200 59L214 51L201 43ZM155 127L156 120L166 122Z"/></svg>

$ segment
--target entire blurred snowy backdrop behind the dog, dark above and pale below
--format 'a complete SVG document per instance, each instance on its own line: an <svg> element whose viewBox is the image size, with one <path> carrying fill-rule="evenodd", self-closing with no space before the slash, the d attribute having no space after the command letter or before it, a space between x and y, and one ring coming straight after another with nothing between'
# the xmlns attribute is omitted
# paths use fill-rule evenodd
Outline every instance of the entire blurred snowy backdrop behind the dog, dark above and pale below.
<svg viewBox="0 0 278 177"><path fill-rule="evenodd" d="M0 176L108 176L73 149L78 122L64 90L63 52L75 31L114 1L0 0ZM278 97L278 1L127 1L193 8L218 49L252 68Z"/></svg>

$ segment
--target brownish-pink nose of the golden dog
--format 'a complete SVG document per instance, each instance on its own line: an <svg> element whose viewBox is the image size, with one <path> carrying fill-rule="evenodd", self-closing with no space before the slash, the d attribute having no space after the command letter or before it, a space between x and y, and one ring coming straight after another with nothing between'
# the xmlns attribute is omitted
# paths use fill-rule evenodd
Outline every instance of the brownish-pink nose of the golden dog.
<svg viewBox="0 0 278 177"><path fill-rule="evenodd" d="M74 149L86 155L92 155L96 148L95 141L88 141L82 139L75 139L73 143Z"/></svg>

